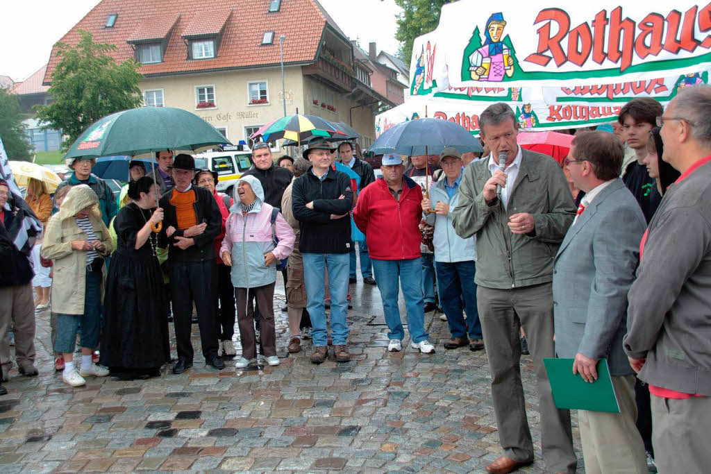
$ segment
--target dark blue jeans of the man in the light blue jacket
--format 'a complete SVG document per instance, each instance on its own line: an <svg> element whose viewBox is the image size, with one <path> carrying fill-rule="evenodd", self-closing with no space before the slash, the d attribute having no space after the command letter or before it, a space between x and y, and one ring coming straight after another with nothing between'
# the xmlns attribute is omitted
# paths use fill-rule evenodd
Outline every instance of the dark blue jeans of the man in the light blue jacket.
<svg viewBox="0 0 711 474"><path fill-rule="evenodd" d="M447 315L449 331L452 338L481 339L481 323L479 311L476 309L476 264L474 260L468 262L434 262L437 269L437 289L439 290L439 303L442 304L444 314ZM464 321L464 308L466 306L466 322Z"/></svg>

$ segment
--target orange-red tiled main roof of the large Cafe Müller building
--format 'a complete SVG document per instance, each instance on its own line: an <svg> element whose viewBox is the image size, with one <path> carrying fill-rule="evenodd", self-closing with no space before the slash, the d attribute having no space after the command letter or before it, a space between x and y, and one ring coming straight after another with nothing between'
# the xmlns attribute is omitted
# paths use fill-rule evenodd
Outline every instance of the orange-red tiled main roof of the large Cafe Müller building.
<svg viewBox="0 0 711 474"><path fill-rule="evenodd" d="M212 14L216 18L230 10L234 13L225 23L217 57L187 60L187 46L181 36L190 31L188 28L192 27L193 19L203 14ZM133 38L139 28L142 29L144 18L168 18L161 28L170 28L171 20L180 14L169 38L163 63L141 65L141 74L179 74L277 65L279 41L261 45L264 31L274 31L274 38L281 35L287 37L284 41L284 63L314 61L324 26L330 19L318 2L282 0L278 12L269 13L268 10L269 0L102 0L60 41L75 45L79 41L78 30L90 31L97 43L116 45L117 50L110 54L121 62L134 57L132 45L127 40ZM105 28L109 14L117 14L113 28ZM213 23L210 25L213 28ZM338 28L335 23L333 27ZM56 46L50 56L45 83L49 82L58 63L55 53Z"/></svg>

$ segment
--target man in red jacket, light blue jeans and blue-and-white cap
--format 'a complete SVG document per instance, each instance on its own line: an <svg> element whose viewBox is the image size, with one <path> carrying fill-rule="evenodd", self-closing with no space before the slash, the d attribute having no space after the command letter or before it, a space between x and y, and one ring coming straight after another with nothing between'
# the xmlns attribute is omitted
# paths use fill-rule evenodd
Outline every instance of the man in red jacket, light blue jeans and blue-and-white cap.
<svg viewBox="0 0 711 474"><path fill-rule="evenodd" d="M434 346L424 330L422 300L422 264L419 253L419 221L422 220L422 190L412 179L402 176L400 155L383 156L383 177L365 186L353 210L353 220L365 234L373 273L383 298L385 323L390 328L387 350L402 350L405 330L397 306L398 288L402 284L407 308L407 328L412 348L431 354Z"/></svg>

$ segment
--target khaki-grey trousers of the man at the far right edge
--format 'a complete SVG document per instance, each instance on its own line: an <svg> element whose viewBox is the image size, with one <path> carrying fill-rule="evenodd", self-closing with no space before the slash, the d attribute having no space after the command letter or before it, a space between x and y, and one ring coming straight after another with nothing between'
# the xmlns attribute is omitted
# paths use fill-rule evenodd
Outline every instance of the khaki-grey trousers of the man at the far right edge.
<svg viewBox="0 0 711 474"><path fill-rule="evenodd" d="M709 472L711 397L651 397L652 444L659 473Z"/></svg>

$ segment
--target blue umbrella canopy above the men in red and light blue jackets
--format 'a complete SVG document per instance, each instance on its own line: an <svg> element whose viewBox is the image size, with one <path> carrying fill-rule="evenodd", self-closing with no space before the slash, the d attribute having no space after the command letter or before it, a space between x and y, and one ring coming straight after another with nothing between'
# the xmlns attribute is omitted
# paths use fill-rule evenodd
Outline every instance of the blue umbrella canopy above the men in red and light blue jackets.
<svg viewBox="0 0 711 474"><path fill-rule="evenodd" d="M368 151L377 155L417 156L437 154L448 146L454 146L461 153L483 151L479 140L463 126L442 119L417 119L397 124L384 131Z"/></svg>

